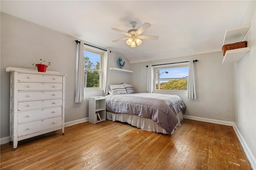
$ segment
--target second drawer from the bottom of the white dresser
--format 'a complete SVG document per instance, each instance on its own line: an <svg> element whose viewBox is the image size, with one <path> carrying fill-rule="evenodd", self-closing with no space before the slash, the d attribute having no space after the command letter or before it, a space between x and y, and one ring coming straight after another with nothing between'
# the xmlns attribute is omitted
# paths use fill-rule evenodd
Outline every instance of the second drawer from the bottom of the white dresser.
<svg viewBox="0 0 256 170"><path fill-rule="evenodd" d="M18 112L18 123L34 121L38 119L46 119L49 117L62 115L62 107L51 107L46 109L30 110L30 111L19 111Z"/></svg>

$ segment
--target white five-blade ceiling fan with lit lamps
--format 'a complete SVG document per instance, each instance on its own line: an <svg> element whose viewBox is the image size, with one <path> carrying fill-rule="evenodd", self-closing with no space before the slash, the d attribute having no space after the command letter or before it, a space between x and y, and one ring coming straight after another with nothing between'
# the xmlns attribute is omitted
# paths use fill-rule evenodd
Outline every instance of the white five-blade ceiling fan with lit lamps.
<svg viewBox="0 0 256 170"><path fill-rule="evenodd" d="M143 25L141 25L141 27L139 29L135 29L137 22L133 21L133 22L131 22L131 25L132 25L133 29L129 29L128 32L122 31L120 29L112 28L112 30L123 33L124 35L128 36L126 38L117 39L112 42L117 42L117 41L127 39L127 41L126 41L127 45L130 45L131 47L136 47L136 44L140 45L142 43L141 39L157 40L159 38L159 36L140 35L151 26L150 23L145 22Z"/></svg>

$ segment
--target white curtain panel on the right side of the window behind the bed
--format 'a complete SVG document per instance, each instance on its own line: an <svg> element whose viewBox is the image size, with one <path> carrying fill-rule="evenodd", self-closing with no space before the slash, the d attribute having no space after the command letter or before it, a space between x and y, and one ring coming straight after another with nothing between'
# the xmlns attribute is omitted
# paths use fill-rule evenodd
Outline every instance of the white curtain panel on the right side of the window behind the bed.
<svg viewBox="0 0 256 170"><path fill-rule="evenodd" d="M190 59L189 70L188 70L188 92L187 92L188 99L197 99L193 65L194 65L193 60Z"/></svg>

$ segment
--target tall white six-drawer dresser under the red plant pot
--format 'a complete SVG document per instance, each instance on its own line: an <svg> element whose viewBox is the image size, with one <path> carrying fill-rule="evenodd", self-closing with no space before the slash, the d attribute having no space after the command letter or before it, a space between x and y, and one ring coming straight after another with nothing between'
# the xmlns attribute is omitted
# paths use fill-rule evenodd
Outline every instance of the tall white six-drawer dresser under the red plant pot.
<svg viewBox="0 0 256 170"><path fill-rule="evenodd" d="M10 141L62 129L64 134L65 75L55 71L6 68L10 72Z"/></svg>

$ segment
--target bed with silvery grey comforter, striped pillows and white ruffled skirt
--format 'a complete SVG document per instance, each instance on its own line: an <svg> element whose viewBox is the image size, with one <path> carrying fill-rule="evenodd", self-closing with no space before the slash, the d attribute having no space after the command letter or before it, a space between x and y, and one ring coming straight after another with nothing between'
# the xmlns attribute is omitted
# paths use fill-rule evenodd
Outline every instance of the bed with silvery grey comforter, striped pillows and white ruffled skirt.
<svg viewBox="0 0 256 170"><path fill-rule="evenodd" d="M127 122L143 130L164 134L172 134L180 126L186 106L179 96L135 93L133 87L132 90L123 90L121 84L115 87L110 90L111 94L105 96L107 119Z"/></svg>

